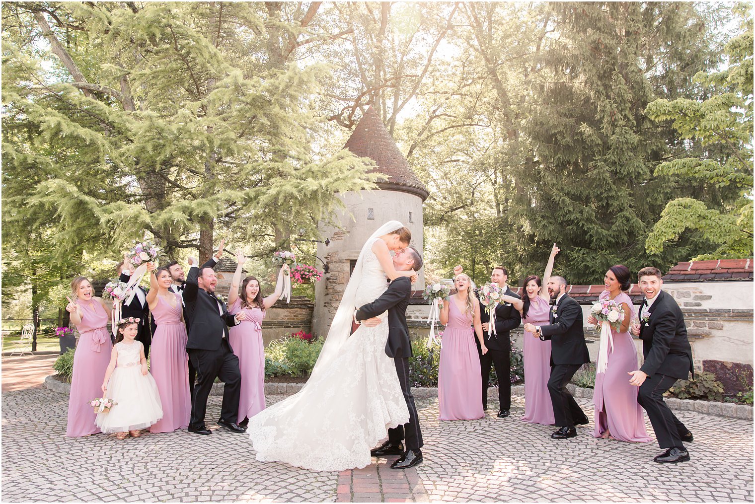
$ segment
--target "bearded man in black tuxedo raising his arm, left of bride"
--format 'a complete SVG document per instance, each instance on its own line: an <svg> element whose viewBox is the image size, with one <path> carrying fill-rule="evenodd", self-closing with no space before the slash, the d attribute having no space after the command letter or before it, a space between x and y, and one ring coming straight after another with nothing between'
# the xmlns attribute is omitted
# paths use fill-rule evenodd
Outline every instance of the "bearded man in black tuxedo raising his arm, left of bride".
<svg viewBox="0 0 755 504"><path fill-rule="evenodd" d="M225 383L223 405L217 423L232 432L244 432L236 424L239 414L239 393L241 392L241 372L239 358L233 355L228 343L228 327L239 324L245 313L231 315L223 301L215 296L217 275L213 266L223 254L223 241L215 257L199 268L196 261L190 260L192 266L183 289L185 312L189 315L189 341L186 351L197 373L196 386L192 394L191 419L189 432L211 434L205 426L207 398L216 377Z"/></svg>

